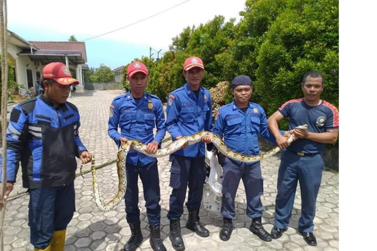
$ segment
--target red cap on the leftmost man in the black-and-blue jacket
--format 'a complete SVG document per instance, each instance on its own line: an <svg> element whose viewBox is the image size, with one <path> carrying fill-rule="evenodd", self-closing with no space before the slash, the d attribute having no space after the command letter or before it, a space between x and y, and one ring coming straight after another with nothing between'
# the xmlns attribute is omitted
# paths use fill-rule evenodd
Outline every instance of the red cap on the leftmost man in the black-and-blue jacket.
<svg viewBox="0 0 377 251"><path fill-rule="evenodd" d="M69 68L61 62L49 63L42 70L43 79L54 79L61 85L78 85L78 81L72 78Z"/></svg>

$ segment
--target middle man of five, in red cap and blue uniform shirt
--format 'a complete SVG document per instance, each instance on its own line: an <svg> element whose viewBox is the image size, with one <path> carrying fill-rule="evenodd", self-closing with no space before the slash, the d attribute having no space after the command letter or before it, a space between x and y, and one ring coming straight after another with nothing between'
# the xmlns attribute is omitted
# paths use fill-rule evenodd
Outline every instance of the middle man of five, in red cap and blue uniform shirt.
<svg viewBox="0 0 377 251"><path fill-rule="evenodd" d="M166 127L173 141L199 131L210 131L212 128L210 93L200 86L204 75L202 59L196 56L187 58L183 65L183 75L187 83L168 96ZM205 179L204 143L211 143L209 136L203 137L202 142L185 145L183 149L170 155L172 162L170 187L173 191L170 195L167 217L170 220L169 239L175 250L185 249L179 220L183 213L187 186L189 186L189 198L186 206L189 210L189 219L186 227L201 237L209 236L209 231L199 222L199 208ZM213 148L212 144L207 145L208 150L211 148Z"/></svg>

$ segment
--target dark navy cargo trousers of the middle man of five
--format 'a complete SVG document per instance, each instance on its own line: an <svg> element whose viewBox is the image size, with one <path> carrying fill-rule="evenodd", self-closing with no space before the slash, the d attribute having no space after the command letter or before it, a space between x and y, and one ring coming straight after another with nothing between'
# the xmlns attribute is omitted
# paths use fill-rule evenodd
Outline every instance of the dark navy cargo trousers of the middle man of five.
<svg viewBox="0 0 377 251"><path fill-rule="evenodd" d="M170 184L173 188L170 195L170 208L167 218L171 221L179 220L183 213L183 203L189 185L187 210L199 210L203 196L205 179L204 156L199 158L170 155L172 167L170 169Z"/></svg>

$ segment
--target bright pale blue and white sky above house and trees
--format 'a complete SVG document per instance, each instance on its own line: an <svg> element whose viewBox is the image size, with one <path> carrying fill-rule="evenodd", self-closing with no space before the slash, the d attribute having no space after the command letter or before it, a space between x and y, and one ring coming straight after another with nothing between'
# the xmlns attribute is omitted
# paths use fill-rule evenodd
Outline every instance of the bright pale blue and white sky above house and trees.
<svg viewBox="0 0 377 251"><path fill-rule="evenodd" d="M185 0L51 0L8 1L8 29L29 41L67 41L75 35L78 41L135 23ZM22 8L20 8L22 6ZM85 41L87 64L105 64L116 68L134 58L149 56L149 47L169 50L172 38L187 26L207 23L215 15L238 18L245 0L188 0L162 14ZM31 14L31 13L37 13ZM43 15L46 13L46 15ZM238 20L237 20L238 21ZM156 58L156 54L153 55Z"/></svg>

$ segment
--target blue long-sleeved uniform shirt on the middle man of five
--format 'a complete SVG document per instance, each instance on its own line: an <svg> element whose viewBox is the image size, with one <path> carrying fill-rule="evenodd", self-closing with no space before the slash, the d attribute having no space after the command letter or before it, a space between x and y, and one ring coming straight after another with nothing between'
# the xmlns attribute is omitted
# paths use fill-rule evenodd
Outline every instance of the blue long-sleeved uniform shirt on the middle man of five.
<svg viewBox="0 0 377 251"><path fill-rule="evenodd" d="M166 113L166 128L172 135L173 141L178 136L189 136L199 131L210 131L212 129L210 92L204 87L199 87L199 96L196 98L194 91L186 83L169 94ZM212 147L212 144L208 144L208 151ZM204 155L204 151L204 143L198 142L180 149L174 154L198 158Z"/></svg>

